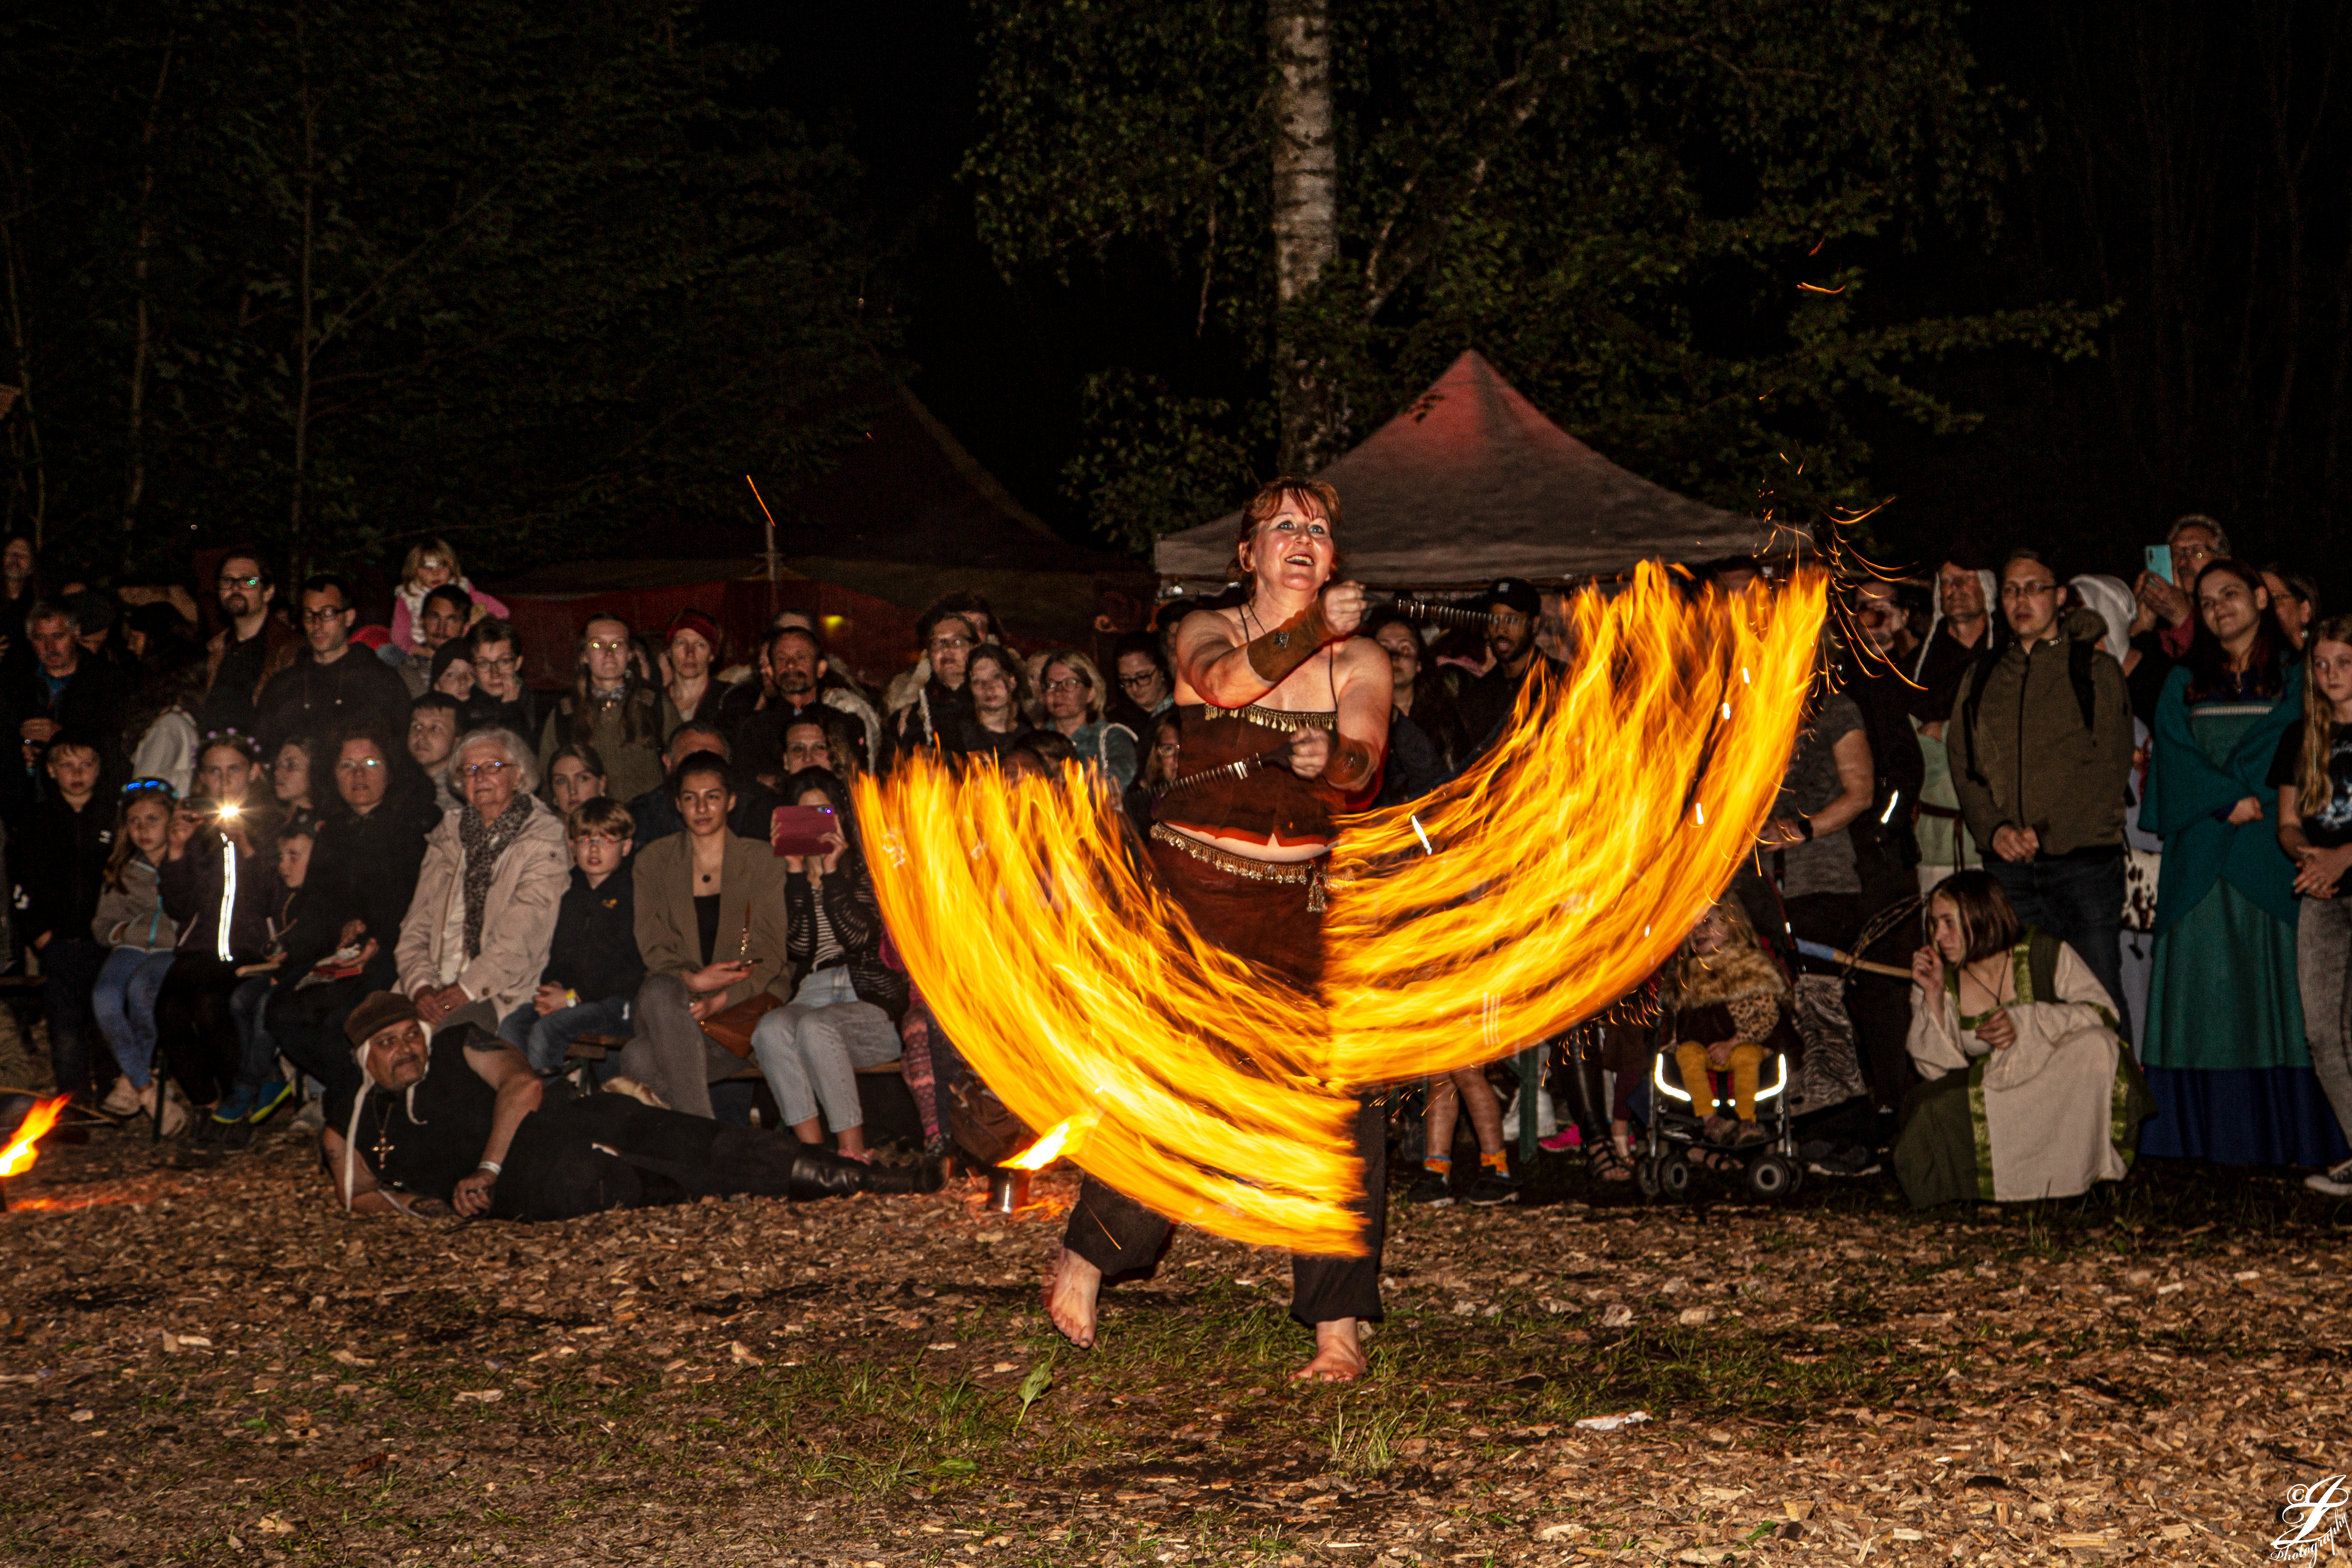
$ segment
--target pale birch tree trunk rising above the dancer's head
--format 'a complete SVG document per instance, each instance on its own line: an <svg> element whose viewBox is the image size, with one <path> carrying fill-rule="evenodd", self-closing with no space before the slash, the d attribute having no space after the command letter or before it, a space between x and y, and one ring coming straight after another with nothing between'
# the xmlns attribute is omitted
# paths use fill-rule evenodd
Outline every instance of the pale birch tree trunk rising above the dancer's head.
<svg viewBox="0 0 2352 1568"><path fill-rule="evenodd" d="M1272 0L1265 38L1275 66L1275 388L1282 473L1331 461L1338 400L1327 367L1298 341L1298 320L1338 256L1338 143L1331 125L1329 0Z"/></svg>

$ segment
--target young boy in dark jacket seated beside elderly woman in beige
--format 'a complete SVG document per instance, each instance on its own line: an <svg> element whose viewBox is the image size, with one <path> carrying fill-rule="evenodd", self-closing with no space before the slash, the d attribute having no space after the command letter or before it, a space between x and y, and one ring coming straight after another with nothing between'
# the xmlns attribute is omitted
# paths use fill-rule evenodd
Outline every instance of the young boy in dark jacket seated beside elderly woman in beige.
<svg viewBox="0 0 2352 1568"><path fill-rule="evenodd" d="M567 823L572 886L555 912L555 945L529 1006L499 1023L499 1039L522 1051L541 1074L562 1072L581 1034L628 1034L628 1004L644 983L637 952L633 882L614 877L628 863L635 820L628 806L597 795Z"/></svg>

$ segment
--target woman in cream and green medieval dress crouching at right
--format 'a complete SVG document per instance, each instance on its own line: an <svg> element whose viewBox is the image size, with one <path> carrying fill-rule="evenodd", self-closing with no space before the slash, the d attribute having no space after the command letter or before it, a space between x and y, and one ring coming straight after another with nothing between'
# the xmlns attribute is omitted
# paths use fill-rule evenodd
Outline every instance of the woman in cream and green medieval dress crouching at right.
<svg viewBox="0 0 2352 1568"><path fill-rule="evenodd" d="M2114 1004L2082 957L2018 919L1987 872L1929 896L1912 957L1910 1056L1896 1175L1915 1208L2013 1204L2124 1180L2154 1103Z"/></svg>

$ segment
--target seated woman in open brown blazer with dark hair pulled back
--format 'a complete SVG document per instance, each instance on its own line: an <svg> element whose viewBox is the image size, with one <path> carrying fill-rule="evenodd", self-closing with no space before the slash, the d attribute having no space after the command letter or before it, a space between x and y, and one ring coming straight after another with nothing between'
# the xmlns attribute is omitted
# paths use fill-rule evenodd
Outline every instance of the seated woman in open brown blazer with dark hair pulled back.
<svg viewBox="0 0 2352 1568"><path fill-rule="evenodd" d="M767 835L727 827L727 757L684 757L670 788L684 832L640 844L633 870L644 985L619 1067L663 1105L708 1117L710 1084L743 1070L753 1013L793 999L790 917Z"/></svg>

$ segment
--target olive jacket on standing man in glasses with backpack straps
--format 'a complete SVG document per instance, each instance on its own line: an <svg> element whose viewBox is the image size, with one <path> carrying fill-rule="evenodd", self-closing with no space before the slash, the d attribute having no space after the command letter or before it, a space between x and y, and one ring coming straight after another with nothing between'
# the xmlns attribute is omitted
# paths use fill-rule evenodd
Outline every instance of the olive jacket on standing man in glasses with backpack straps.
<svg viewBox="0 0 2352 1568"><path fill-rule="evenodd" d="M2105 630L2100 616L2067 611L2053 637L2032 649L2011 639L1990 672L1978 661L1962 675L1943 738L1959 813L1987 860L2002 827L2039 832L2044 858L2124 842L2131 691L2098 646Z"/></svg>

